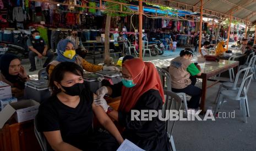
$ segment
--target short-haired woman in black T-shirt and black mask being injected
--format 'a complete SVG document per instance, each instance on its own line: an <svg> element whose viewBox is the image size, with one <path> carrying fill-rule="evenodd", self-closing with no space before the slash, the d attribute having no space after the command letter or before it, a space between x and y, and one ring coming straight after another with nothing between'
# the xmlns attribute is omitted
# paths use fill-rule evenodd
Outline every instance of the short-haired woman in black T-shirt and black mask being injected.
<svg viewBox="0 0 256 151"><path fill-rule="evenodd" d="M83 69L73 62L61 62L50 77L51 98L37 115L39 131L54 150L116 150L123 138L94 94L85 88ZM92 129L93 115L113 136Z"/></svg>

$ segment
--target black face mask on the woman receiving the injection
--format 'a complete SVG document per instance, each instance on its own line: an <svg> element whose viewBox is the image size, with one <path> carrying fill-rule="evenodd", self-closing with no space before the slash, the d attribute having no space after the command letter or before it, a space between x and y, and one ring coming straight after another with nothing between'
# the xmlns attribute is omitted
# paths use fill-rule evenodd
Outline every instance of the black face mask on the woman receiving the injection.
<svg viewBox="0 0 256 151"><path fill-rule="evenodd" d="M83 90L85 89L85 86L84 86L84 83L77 83L69 87L62 86L62 88L65 90L63 92L66 93L67 95L78 96L81 94L81 92L83 92Z"/></svg>

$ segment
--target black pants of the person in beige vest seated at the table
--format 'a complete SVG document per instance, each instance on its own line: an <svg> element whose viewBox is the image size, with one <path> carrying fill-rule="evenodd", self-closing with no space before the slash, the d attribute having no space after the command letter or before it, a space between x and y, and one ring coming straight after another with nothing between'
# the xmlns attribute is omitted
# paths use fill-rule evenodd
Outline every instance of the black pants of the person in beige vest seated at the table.
<svg viewBox="0 0 256 151"><path fill-rule="evenodd" d="M195 86L197 83L197 78L190 77L192 83L188 85L186 88L183 89L174 89L172 88L173 92L184 92L187 95L192 96L188 102L188 108L195 108L197 109L199 106L199 101L201 97L201 89Z"/></svg>

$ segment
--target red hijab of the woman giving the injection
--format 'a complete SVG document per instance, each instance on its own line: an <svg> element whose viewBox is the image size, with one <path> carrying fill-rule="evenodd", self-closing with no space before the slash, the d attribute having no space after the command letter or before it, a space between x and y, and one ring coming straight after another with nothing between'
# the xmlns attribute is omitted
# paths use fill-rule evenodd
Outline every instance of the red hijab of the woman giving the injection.
<svg viewBox="0 0 256 151"><path fill-rule="evenodd" d="M122 87L122 97L118 111L129 112L137 103L139 97L150 89L158 90L164 101L164 90L155 66L151 62L140 59L130 59L123 64L132 75L136 84L132 88Z"/></svg>

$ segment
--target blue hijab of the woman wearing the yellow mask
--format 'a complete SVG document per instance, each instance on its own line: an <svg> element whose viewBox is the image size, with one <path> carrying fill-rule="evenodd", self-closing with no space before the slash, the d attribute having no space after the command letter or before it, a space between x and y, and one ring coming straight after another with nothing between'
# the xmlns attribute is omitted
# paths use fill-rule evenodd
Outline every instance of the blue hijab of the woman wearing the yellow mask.
<svg viewBox="0 0 256 151"><path fill-rule="evenodd" d="M75 62L75 56L73 57L73 59L68 59L67 57L63 56L63 53L66 51L66 46L68 43L72 43L74 45L74 43L69 40L69 39L62 39L59 41L58 45L57 45L57 58L56 60L59 62Z"/></svg>

